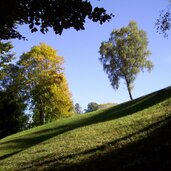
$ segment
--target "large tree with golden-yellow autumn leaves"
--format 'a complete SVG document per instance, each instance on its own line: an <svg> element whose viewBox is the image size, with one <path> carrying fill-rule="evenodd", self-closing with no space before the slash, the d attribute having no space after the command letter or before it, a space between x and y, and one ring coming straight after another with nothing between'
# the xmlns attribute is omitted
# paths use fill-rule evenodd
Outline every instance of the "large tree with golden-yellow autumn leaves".
<svg viewBox="0 0 171 171"><path fill-rule="evenodd" d="M36 124L71 114L73 104L62 64L63 58L56 50L43 43L20 57L23 89L32 104Z"/></svg>

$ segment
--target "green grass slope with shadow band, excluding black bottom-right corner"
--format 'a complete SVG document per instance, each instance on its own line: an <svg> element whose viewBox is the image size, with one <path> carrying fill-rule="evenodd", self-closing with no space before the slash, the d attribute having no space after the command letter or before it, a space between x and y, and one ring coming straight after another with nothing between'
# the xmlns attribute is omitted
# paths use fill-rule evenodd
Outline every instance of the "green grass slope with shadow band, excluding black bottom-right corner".
<svg viewBox="0 0 171 171"><path fill-rule="evenodd" d="M108 167L91 161L106 161L109 154L112 160L114 152L148 138L170 117L171 87L106 110L60 119L0 140L0 170Z"/></svg>

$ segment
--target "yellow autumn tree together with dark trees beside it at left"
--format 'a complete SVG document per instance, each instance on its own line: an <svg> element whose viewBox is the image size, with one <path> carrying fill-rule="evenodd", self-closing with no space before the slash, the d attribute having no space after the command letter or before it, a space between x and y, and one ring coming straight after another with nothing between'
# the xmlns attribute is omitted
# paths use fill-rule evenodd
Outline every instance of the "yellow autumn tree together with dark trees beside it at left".
<svg viewBox="0 0 171 171"><path fill-rule="evenodd" d="M63 57L41 43L14 63L10 43L0 43L0 137L73 114L73 102L63 72Z"/></svg>

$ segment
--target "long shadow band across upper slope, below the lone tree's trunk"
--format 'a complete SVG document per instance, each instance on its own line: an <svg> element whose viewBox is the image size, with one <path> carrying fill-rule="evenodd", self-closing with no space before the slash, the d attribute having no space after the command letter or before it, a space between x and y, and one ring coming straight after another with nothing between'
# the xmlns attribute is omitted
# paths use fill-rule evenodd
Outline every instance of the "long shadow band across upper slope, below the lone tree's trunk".
<svg viewBox="0 0 171 171"><path fill-rule="evenodd" d="M135 112L141 111L145 108L151 107L159 102L162 102L163 100L169 97L171 97L171 87L151 93L149 95L143 96L133 101L122 103L120 105L99 112L97 114L91 114L89 117L86 118L80 117L80 119L75 119L69 123L63 124L62 126L57 125L54 128L42 128L41 131L36 131L34 133L30 133L28 135L24 135L16 139L6 141L4 142L4 144L6 144L6 147L2 147L1 149L4 150L5 148L20 148L22 150L25 150L31 146L34 146L49 138L52 138L54 136L57 136L70 130L131 115ZM12 144L12 147L10 147L10 144ZM3 145L3 143L0 143L0 145ZM16 154L17 151L15 152L14 150L11 153L9 152L9 154L5 155L6 157L1 156L0 160L13 155L13 153Z"/></svg>

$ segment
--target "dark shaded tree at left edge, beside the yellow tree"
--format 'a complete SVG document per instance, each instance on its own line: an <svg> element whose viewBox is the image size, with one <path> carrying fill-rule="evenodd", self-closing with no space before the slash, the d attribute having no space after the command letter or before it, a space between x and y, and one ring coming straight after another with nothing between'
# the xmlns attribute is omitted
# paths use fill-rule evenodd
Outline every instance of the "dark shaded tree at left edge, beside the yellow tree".
<svg viewBox="0 0 171 171"><path fill-rule="evenodd" d="M12 44L0 42L0 138L27 128L29 116L20 94L18 67L13 62Z"/></svg>

